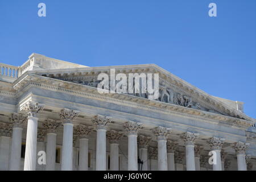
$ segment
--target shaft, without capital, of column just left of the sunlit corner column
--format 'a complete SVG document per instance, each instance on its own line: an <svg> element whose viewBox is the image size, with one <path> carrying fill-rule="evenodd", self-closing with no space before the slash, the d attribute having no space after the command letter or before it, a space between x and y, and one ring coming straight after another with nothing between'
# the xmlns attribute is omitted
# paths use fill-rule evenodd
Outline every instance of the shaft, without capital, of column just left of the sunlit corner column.
<svg viewBox="0 0 256 182"><path fill-rule="evenodd" d="M10 171L19 171L20 155L22 146L22 127L13 128L13 138L11 141Z"/></svg>

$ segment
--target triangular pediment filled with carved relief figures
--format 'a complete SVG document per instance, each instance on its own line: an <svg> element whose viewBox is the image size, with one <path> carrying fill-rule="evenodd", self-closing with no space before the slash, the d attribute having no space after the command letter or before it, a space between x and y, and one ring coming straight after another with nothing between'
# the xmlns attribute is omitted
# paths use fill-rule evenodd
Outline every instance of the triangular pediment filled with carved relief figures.
<svg viewBox="0 0 256 182"><path fill-rule="evenodd" d="M97 81L98 74L106 73L110 75L110 69L115 69L115 74L125 73L126 75L129 73L159 73L160 91L159 98L156 100L160 102L254 121L240 110L226 105L218 98L210 96L203 90L155 64L53 69L49 71L30 71L30 73L95 88L100 82ZM134 94L133 96L147 98L147 94Z"/></svg>

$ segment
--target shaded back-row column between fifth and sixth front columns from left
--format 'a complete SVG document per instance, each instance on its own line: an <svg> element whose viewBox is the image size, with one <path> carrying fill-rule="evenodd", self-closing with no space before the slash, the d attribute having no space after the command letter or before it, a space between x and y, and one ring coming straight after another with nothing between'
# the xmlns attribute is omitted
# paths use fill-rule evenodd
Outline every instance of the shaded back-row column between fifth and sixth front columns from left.
<svg viewBox="0 0 256 182"><path fill-rule="evenodd" d="M177 148L177 143L168 140L167 141L167 164L168 164L168 171L175 171L175 159L174 154Z"/></svg>

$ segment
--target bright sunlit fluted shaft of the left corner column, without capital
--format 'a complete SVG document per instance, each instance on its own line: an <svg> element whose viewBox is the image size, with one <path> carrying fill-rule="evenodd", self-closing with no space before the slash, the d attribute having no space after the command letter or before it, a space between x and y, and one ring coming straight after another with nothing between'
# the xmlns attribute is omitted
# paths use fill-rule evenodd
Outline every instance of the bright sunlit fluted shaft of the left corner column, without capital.
<svg viewBox="0 0 256 182"><path fill-rule="evenodd" d="M28 117L24 171L35 171L38 118Z"/></svg>

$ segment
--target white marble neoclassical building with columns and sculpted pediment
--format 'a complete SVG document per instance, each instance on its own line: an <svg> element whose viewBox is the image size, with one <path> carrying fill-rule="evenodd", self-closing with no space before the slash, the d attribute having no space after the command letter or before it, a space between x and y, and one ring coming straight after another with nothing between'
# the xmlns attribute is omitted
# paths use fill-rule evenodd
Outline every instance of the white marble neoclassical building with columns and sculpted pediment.
<svg viewBox="0 0 256 182"><path fill-rule="evenodd" d="M110 68L158 73L159 98L99 93ZM0 63L0 170L256 170L255 122L243 102L155 64L86 67L37 53Z"/></svg>

